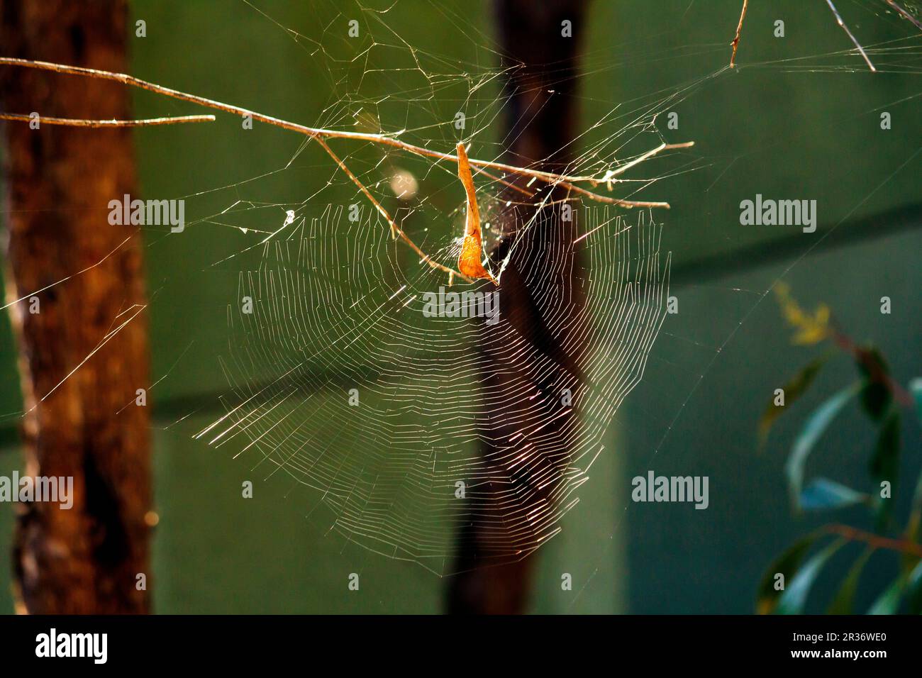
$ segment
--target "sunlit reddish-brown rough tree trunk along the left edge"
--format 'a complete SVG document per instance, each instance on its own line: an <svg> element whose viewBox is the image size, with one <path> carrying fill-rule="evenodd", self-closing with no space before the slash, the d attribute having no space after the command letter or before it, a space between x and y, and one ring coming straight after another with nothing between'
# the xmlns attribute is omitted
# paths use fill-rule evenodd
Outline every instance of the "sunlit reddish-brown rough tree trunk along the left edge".
<svg viewBox="0 0 922 678"><path fill-rule="evenodd" d="M122 1L0 0L0 21L6 56L127 70ZM8 113L130 117L124 87L31 69L0 70L0 101ZM145 613L148 591L136 585L148 575L151 501L148 408L135 402L148 387L147 317L136 315L146 303L141 239L137 227L108 221L109 201L135 194L131 133L9 122L3 137L7 300L26 297L10 306L26 473L74 479L70 510L17 505L18 611Z"/></svg>

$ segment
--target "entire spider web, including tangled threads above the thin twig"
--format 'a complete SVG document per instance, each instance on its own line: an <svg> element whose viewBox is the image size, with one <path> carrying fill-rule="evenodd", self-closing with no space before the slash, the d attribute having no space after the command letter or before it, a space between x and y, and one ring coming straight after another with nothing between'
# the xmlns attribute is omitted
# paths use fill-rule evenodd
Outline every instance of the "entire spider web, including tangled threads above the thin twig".
<svg viewBox="0 0 922 678"><path fill-rule="evenodd" d="M319 35L279 25L327 69L330 103L315 126L375 134L399 130L399 138L428 149L450 151L464 141L471 144L471 157L502 157L510 139L496 138L495 131L511 96L500 89L508 69L457 64L411 47L384 20L386 11L368 8L359 15L365 46L357 54L344 30L352 17L333 14ZM443 16L480 52L495 56L489 36L463 18ZM917 44L868 45L868 53L886 58L893 69L918 72ZM692 45L684 52L727 49ZM651 54L641 51L633 58ZM603 55L585 54L587 75L614 66ZM750 67L861 70L848 49ZM565 173L604 180L645 150L684 140L664 130L663 114L721 72L613 106L574 140L580 151ZM465 115L463 129L455 125L455 111ZM296 167L309 143L280 172ZM349 169L428 256L453 267L465 214L453 163L374 144L355 146L342 156ZM660 164L644 172L647 165L639 166L647 178L626 174L606 195L630 198L705 165L687 156L668 162L668 170ZM219 358L231 392L223 398L226 413L198 437L231 448L266 476L287 474L310 488L316 501L312 517L322 508L328 515L317 519L374 552L449 573L457 533L469 519L467 507L489 503L494 508L481 519L491 526L491 538L481 557L502 562L531 553L559 532L597 456L614 454L605 449L606 431L643 376L665 319L670 256L661 251L659 214L574 202L573 222L564 224L545 186L529 185L531 196L517 196L506 189L512 177L475 173L486 250L502 244L497 224L503 220L518 220L506 243L509 253L538 246L536 232L578 233L552 239L556 248L541 253L547 266L526 272L527 287L556 297L539 302L559 305L550 333L567 338L563 352L585 369L577 377L541 354L507 315L495 325L482 317L427 317L427 293L495 290L482 281L452 284L391 238L388 223L332 163L319 171L329 172L325 187L296 202L260 202L244 191L202 220L239 229L253 244L218 262L237 267L238 274L228 303L228 351ZM240 196L248 184L228 188ZM355 189L354 200L325 201L325 192L335 189ZM520 211L529 205L540 206L537 216ZM501 307L509 256L494 267ZM244 260L249 265L241 267ZM566 284L573 266L585 298L584 320L575 331L568 323L576 301ZM752 292L754 303L668 418L653 456L720 351L771 288ZM252 308L244 310L244 300ZM485 362L484 355L493 360ZM504 365L533 381L491 390L487 385L497 375L490 370L497 368L485 364ZM568 417L572 412L576 416ZM498 433L495 420L503 418L512 420L514 434ZM566 418L562 428L561 418ZM505 421L502 429L509 427ZM523 476L534 482L523 484ZM550 481L557 477L559 482ZM550 494L542 492L542 483L552 484Z"/></svg>

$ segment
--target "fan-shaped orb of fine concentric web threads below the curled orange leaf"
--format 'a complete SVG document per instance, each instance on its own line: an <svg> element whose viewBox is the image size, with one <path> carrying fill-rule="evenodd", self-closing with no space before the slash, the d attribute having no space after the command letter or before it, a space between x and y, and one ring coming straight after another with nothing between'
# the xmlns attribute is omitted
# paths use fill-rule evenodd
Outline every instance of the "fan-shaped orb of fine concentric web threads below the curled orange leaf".
<svg viewBox="0 0 922 678"><path fill-rule="evenodd" d="M438 290L443 278L410 269L394 280L386 231L368 223L376 218L366 213L353 223L344 209L329 207L266 243L258 268L240 274L228 315L229 411L202 437L266 476L281 472L313 488L333 529L373 551L446 572L466 506L455 496L459 481L466 501L491 500L480 516L492 534L486 560L534 551L578 501L612 415L643 374L665 311L668 260L660 258L661 230L651 215L626 220L586 208L574 218L591 234L560 244L547 253L546 268L526 274L550 285L526 284L553 296L538 301L560 307L548 323L561 332L571 302L554 281L570 274L564 268L582 247L577 278L586 320L561 334L568 337L562 350L585 363L585 378L538 354L504 320L490 326L480 318L424 317L421 295ZM535 228L553 231L556 219L549 210ZM524 237L521 247L534 246ZM252 314L237 301L245 296ZM528 378L505 391L485 389L489 375L481 374L477 346ZM358 406L349 405L353 387ZM572 405L562 404L564 388ZM580 416L555 430L550 424L570 407ZM515 433L488 440L494 453L482 458L491 417L511 418ZM562 481L538 497L541 473L551 468ZM514 482L525 470L529 481Z"/></svg>

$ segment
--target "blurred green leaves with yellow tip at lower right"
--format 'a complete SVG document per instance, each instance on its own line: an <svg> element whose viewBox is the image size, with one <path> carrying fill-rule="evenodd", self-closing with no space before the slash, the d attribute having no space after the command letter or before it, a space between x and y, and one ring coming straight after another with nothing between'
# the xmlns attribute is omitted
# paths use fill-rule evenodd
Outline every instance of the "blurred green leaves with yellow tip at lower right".
<svg viewBox="0 0 922 678"><path fill-rule="evenodd" d="M922 421L922 379L916 378L904 389L891 373L887 361L873 345L857 345L832 321L830 309L820 304L805 311L793 299L788 287L775 287L778 303L788 325L794 328L791 342L814 345L828 342L833 349L802 367L784 387L780 401L775 396L759 422L760 445L764 445L774 422L786 407L798 401L814 384L823 366L834 355L847 355L855 363L857 380L825 398L810 411L800 426L785 465L788 492L796 512L833 511L846 506L866 506L874 530L829 523L815 529L774 559L762 576L756 611L760 614L803 613L810 589L822 576L824 566L849 541L866 544L848 569L827 612L858 613L855 594L870 558L880 549L902 553L898 574L877 594L866 611L869 614L899 612L922 613L922 545L919 525L922 518L922 474L916 480L909 515L901 523L892 515L900 476L900 438L904 410ZM825 431L849 402L857 398L876 432L876 443L868 454L868 492L861 492L831 478L818 476L805 481L810 453ZM779 577L780 576L780 577Z"/></svg>

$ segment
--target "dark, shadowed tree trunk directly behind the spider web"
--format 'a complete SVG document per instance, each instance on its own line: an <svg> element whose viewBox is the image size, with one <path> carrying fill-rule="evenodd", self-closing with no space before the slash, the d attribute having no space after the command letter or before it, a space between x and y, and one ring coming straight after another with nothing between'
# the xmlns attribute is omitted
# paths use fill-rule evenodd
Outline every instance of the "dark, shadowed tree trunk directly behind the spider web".
<svg viewBox="0 0 922 678"><path fill-rule="evenodd" d="M578 48L586 30L586 3L497 0L495 6L503 65L511 68L507 161L560 171L573 160ZM571 22L573 37L562 34L565 20ZM561 403L563 388L577 393L581 371L571 349L585 321L576 284L576 221L560 219L557 201L564 197L565 192L555 191L550 207L543 208L527 230L522 227L535 216L534 208L511 210L502 223L502 244L493 253L501 260L515 243L500 287L502 321L514 332L512 339L487 332L479 347L487 410L483 428L491 441L483 446L483 464L485 475L495 480L467 495L468 515L455 556L458 574L449 584L451 613L525 612L534 561L530 552L555 527L555 521L542 522L540 517L549 515L557 499L573 448L576 415L557 416L560 410L554 408ZM508 198L523 200L516 192ZM512 341L526 349L519 351L518 360L510 360ZM539 396L532 397L536 390ZM491 394L528 397L505 395L502 409L491 411ZM522 435L538 427L539 435ZM538 518L524 519L526 515Z"/></svg>

